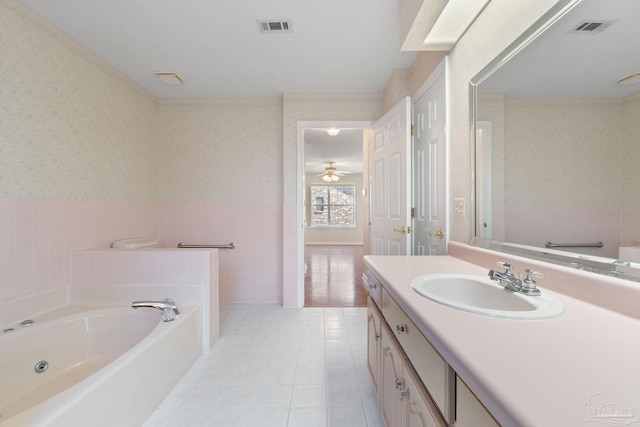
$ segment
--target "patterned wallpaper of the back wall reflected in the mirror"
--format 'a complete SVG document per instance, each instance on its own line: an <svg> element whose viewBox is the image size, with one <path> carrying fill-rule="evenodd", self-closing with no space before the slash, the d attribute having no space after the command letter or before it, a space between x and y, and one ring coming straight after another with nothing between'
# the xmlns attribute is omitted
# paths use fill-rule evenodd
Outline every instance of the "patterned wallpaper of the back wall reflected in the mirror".
<svg viewBox="0 0 640 427"><path fill-rule="evenodd" d="M620 201L624 126L619 101L508 101L505 201Z"/></svg>

